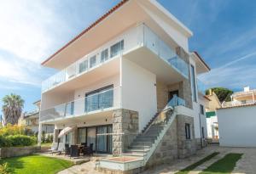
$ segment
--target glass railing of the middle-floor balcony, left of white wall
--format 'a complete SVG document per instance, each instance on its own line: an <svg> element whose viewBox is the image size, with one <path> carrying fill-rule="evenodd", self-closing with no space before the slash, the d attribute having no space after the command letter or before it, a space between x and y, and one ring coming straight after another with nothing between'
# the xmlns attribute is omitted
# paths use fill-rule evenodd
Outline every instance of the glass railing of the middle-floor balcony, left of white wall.
<svg viewBox="0 0 256 174"><path fill-rule="evenodd" d="M120 108L120 88L104 90L85 98L79 98L53 108L40 111L40 121L55 121L72 116L87 115L96 111Z"/></svg>

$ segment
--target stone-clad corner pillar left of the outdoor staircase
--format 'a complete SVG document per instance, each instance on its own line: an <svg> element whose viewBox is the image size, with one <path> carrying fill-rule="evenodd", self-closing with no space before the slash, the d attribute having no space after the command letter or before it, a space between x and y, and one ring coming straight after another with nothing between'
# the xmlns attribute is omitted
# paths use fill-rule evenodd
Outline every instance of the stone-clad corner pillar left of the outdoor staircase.
<svg viewBox="0 0 256 174"><path fill-rule="evenodd" d="M138 113L128 109L113 111L113 155L121 154L138 134Z"/></svg>

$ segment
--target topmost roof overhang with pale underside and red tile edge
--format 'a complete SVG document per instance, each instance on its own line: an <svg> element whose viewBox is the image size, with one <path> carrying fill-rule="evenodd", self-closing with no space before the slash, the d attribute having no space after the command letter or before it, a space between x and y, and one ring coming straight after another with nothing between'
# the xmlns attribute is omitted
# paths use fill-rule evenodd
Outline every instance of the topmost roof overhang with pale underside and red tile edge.
<svg viewBox="0 0 256 174"><path fill-rule="evenodd" d="M62 70L94 49L99 48L115 36L119 36L120 33L131 26L140 23L150 26L151 23L157 23L158 21L152 19L148 11L154 12L155 16L164 19L166 24L171 25L178 32L183 33L184 36L192 36L192 32L166 11L160 3L130 0L115 9L114 13L110 13L107 17L104 17L104 20L94 25L93 28L88 31L85 30L86 32L84 34L79 35L72 42L67 43L66 46L45 60L42 65ZM179 45L178 40L174 42Z"/></svg>

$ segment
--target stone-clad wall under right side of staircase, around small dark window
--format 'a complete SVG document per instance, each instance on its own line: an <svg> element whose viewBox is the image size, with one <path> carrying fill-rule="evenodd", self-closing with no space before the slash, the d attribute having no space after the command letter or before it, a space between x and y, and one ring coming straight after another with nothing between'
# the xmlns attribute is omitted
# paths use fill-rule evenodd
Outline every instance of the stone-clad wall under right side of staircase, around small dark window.
<svg viewBox="0 0 256 174"><path fill-rule="evenodd" d="M185 123L190 124L191 139L186 139ZM148 160L146 168L163 163L171 163L176 159L189 157L196 152L193 117L177 115L172 125L158 144L154 154Z"/></svg>

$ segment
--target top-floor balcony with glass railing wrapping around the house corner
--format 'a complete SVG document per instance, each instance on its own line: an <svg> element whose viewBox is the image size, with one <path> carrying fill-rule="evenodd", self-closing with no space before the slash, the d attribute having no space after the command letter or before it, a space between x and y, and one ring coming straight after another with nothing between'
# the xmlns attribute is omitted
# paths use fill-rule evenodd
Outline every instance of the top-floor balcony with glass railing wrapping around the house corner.
<svg viewBox="0 0 256 174"><path fill-rule="evenodd" d="M61 86L67 81L72 81L74 78L83 76L92 70L96 70L102 65L111 64L110 62L113 62L113 59L134 52L138 48L148 48L154 53L154 57L158 58L157 61L158 63L160 62L159 65L163 69L166 67L170 69L172 67L171 71L165 71L165 73L156 70L156 74L165 74L167 78L170 78L170 74L173 74L171 79L175 79L172 77L175 77L176 74L184 78L189 77L189 65L160 36L154 33L147 25L142 24L125 31L120 36L102 45L102 47L97 48L95 51L88 53L54 76L50 76L42 83L42 93ZM143 56L143 59L146 59L146 57ZM134 59L134 56L132 59ZM148 67L151 68L154 63L150 62L149 59L147 60L143 60L142 65L148 64Z"/></svg>

